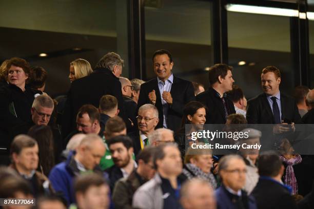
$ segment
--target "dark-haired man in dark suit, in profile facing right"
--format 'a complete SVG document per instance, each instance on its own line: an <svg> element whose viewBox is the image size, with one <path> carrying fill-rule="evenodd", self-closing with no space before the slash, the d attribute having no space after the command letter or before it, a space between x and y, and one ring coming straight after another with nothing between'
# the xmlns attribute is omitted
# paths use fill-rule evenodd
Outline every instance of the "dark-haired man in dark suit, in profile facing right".
<svg viewBox="0 0 314 209"><path fill-rule="evenodd" d="M235 113L233 102L226 94L232 90L234 82L231 71L232 67L225 64L210 67L208 71L210 88L196 97L207 107L207 124L225 124L228 115Z"/></svg>

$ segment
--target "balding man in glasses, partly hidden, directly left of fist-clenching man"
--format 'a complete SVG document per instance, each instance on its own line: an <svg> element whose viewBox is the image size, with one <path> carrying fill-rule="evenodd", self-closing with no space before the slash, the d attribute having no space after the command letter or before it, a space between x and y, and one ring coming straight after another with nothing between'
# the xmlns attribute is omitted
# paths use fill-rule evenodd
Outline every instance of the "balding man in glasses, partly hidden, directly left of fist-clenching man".
<svg viewBox="0 0 314 209"><path fill-rule="evenodd" d="M127 133L136 131L136 109L138 104L132 99L134 87L131 81L125 77L120 77L121 90L123 96L123 115L124 122L127 126Z"/></svg>

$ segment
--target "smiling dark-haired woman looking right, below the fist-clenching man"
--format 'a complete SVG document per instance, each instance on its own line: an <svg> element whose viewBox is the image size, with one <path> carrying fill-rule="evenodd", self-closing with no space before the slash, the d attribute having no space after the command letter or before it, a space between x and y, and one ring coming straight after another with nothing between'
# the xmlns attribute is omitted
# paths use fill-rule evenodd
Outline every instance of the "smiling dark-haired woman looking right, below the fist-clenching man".
<svg viewBox="0 0 314 209"><path fill-rule="evenodd" d="M191 133L203 129L206 122L206 106L199 101L188 102L183 109L181 128L174 134L174 141L178 143L182 157L184 158L185 149L192 143L207 142L202 139L192 140ZM185 126L190 125L190 126ZM186 130L187 128L187 130Z"/></svg>

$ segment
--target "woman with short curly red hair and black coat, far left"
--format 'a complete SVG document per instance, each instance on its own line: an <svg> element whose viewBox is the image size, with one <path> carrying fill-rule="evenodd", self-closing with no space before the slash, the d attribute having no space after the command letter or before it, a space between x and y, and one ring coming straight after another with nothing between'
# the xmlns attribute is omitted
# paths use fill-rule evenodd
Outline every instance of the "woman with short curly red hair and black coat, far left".
<svg viewBox="0 0 314 209"><path fill-rule="evenodd" d="M27 86L31 70L25 59L9 59L5 71L8 85L0 88L0 147L8 148L12 139L9 137L13 128L31 120L31 107L34 98L41 91Z"/></svg>

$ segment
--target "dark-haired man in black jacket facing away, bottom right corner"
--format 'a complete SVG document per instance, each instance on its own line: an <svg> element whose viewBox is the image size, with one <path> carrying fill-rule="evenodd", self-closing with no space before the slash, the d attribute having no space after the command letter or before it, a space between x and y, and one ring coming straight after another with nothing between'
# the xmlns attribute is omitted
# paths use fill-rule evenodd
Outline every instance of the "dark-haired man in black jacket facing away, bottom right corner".
<svg viewBox="0 0 314 209"><path fill-rule="evenodd" d="M252 196L258 208L297 208L290 191L281 181L284 166L277 154L265 153L259 157L260 179Z"/></svg>

